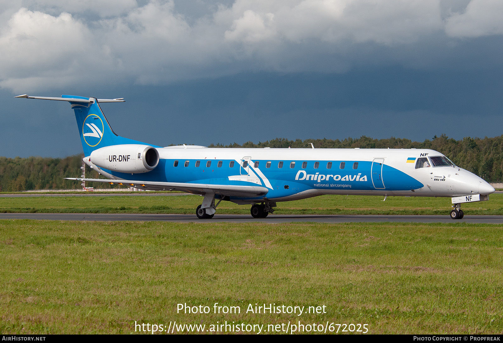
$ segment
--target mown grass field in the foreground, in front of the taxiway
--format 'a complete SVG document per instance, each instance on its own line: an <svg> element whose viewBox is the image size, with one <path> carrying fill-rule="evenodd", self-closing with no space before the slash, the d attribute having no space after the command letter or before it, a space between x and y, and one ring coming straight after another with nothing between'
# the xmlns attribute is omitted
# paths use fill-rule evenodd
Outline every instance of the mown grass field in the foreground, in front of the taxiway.
<svg viewBox="0 0 503 343"><path fill-rule="evenodd" d="M130 333L135 321L175 320L502 333L500 231L462 223L4 220L0 333ZM241 313L212 313L215 302ZM178 303L212 312L177 313ZM249 303L325 305L326 313L244 313Z"/></svg>

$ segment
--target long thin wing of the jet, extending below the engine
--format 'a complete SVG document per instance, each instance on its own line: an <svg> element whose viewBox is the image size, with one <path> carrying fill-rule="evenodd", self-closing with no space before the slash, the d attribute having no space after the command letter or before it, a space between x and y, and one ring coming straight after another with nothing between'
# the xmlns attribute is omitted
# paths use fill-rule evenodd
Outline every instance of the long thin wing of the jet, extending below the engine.
<svg viewBox="0 0 503 343"><path fill-rule="evenodd" d="M127 185L138 189L152 191L182 191L192 194L205 195L215 193L231 197L260 197L267 194L269 189L262 186L237 186L237 185L211 185L211 184L188 184L177 182L157 181L131 181L131 180L108 180L108 179L82 179L65 178L67 180L106 182L109 184Z"/></svg>

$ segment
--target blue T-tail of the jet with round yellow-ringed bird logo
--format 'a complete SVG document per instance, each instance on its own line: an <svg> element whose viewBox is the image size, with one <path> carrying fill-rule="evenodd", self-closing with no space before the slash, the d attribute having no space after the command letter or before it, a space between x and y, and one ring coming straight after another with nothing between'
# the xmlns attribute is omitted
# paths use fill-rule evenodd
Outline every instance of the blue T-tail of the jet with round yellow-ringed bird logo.
<svg viewBox="0 0 503 343"><path fill-rule="evenodd" d="M146 144L117 135L105 118L100 102L124 102L120 99L96 99L74 95L61 95L60 98L19 95L16 98L68 101L75 112L82 149L86 156L96 149L117 144ZM149 144L151 145L151 144ZM153 145L155 146L155 145Z"/></svg>

